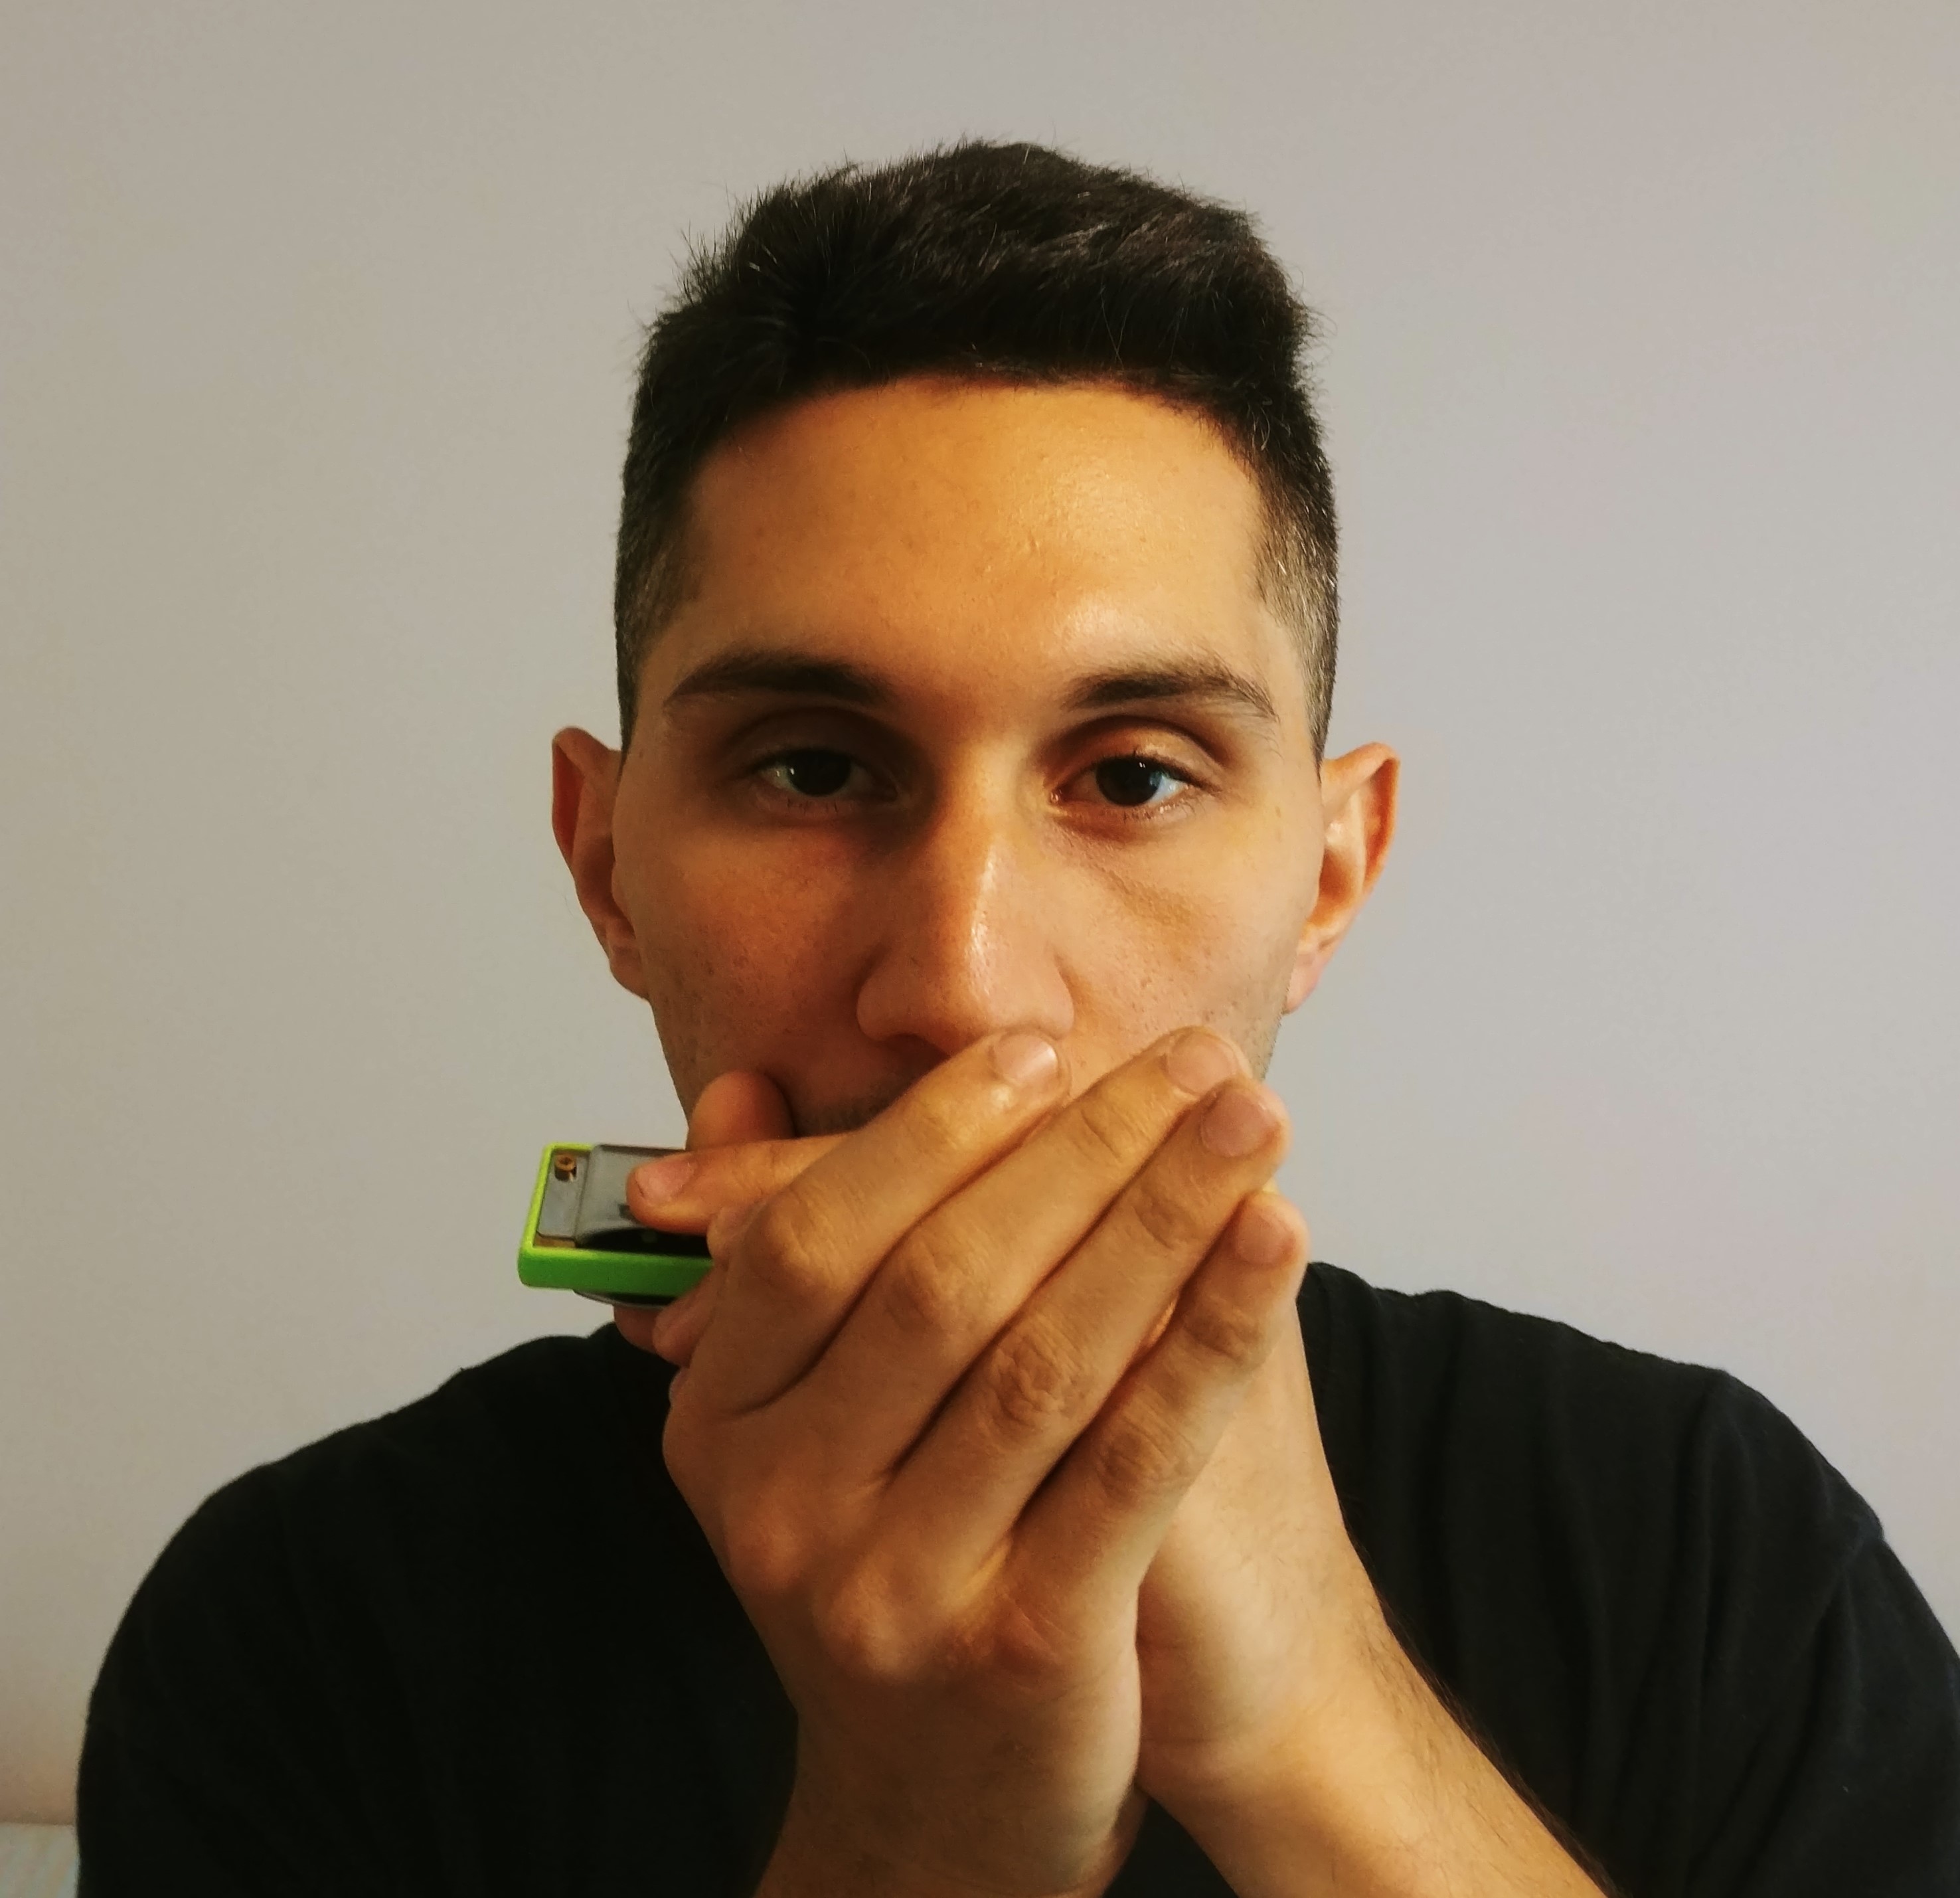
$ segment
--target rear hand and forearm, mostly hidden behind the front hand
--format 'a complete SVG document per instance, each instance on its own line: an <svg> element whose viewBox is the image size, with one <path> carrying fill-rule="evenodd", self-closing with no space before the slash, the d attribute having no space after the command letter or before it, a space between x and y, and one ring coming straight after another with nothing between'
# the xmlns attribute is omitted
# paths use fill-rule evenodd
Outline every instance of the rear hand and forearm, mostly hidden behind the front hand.
<svg viewBox="0 0 1960 1898"><path fill-rule="evenodd" d="M733 1229L739 1208L837 1145L786 1135L788 1110L762 1076L723 1076L696 1110L690 1147L713 1149L696 1178L680 1200L635 1210ZM719 1273L661 1314L668 1357L692 1355ZM649 1316L633 1322L651 1345ZM1341 1523L1294 1325L1172 1516L1139 1594L1137 1647L1139 1786L1249 1898L1597 1898L1390 1633Z"/></svg>

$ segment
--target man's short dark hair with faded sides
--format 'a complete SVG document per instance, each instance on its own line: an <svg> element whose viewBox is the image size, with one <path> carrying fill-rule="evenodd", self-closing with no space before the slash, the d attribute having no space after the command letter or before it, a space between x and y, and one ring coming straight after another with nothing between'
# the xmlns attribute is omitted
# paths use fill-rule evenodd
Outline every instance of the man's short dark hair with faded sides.
<svg viewBox="0 0 1960 1898"><path fill-rule="evenodd" d="M639 367L613 631L621 743L686 598L690 484L733 429L911 375L1102 382L1209 418L1266 504L1260 588L1292 625L1313 753L1335 678L1335 502L1307 384L1313 314L1227 204L1043 145L839 165L696 249Z"/></svg>

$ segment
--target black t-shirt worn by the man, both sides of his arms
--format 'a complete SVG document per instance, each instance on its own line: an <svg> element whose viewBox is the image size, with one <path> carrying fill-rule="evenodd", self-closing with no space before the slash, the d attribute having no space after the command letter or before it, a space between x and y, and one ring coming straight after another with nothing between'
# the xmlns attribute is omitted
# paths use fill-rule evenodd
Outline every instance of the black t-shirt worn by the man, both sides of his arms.
<svg viewBox="0 0 1960 1898"><path fill-rule="evenodd" d="M1960 1894L1960 1661L1762 1398L1325 1265L1299 1312L1390 1618L1619 1890ZM521 1345L206 1502L96 1684L84 1894L745 1892L794 1716L668 1374ZM1225 1884L1152 1810L1111 1890Z"/></svg>

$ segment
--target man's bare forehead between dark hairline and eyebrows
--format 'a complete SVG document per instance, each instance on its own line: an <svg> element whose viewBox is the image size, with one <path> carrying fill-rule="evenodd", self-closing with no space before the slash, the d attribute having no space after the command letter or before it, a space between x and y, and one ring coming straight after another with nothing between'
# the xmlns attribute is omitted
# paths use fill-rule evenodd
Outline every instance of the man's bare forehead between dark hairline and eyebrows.
<svg viewBox="0 0 1960 1898"><path fill-rule="evenodd" d="M970 690L976 669L1007 694L1086 665L1215 661L1298 696L1258 584L1258 486L1168 402L937 378L825 394L721 443L688 512L659 673L760 643L919 690Z"/></svg>

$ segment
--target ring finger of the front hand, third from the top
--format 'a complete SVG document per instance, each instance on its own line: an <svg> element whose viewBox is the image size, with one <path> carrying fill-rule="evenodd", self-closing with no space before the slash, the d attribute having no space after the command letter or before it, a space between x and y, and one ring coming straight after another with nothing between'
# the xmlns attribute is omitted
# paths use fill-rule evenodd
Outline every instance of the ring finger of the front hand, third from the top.
<svg viewBox="0 0 1960 1898"><path fill-rule="evenodd" d="M915 1512L907 1522L921 1547L941 1549L949 1573L984 1561L1011 1531L1284 1151L1280 1098L1252 1080L1227 1082L982 1351L892 1486L894 1506ZM1162 1337L1176 1325L1174 1314Z"/></svg>

